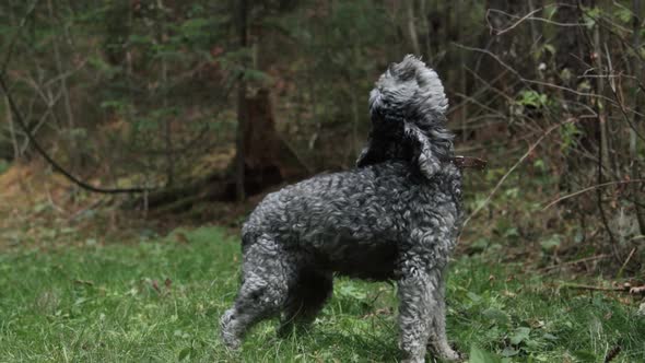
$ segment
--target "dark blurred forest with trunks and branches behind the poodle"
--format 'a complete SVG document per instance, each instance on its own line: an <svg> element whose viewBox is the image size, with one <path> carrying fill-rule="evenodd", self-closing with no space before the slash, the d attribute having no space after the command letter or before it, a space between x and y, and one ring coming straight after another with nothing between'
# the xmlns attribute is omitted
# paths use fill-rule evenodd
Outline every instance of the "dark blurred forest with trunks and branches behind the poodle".
<svg viewBox="0 0 645 363"><path fill-rule="evenodd" d="M641 0L4 0L0 173L49 168L37 140L81 180L152 189L130 208L248 198L352 167L374 81L412 52L444 80L458 153L489 161L466 176L467 248L634 273L644 38Z"/></svg>

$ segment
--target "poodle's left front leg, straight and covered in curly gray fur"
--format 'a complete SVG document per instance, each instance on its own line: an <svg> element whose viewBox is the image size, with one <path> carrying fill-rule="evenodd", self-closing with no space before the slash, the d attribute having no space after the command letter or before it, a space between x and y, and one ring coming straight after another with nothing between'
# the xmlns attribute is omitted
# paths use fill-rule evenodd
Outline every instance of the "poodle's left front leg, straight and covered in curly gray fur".
<svg viewBox="0 0 645 363"><path fill-rule="evenodd" d="M430 274L421 268L408 267L397 281L399 295L399 347L403 352L403 362L425 362L425 346L431 333L431 320L427 316L436 311L432 306L432 288Z"/></svg>

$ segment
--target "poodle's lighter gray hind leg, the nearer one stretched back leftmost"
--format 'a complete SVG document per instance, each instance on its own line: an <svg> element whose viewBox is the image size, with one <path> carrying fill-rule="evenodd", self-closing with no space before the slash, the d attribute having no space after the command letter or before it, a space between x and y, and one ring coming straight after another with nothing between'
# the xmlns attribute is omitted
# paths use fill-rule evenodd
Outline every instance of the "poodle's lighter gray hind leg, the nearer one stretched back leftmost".
<svg viewBox="0 0 645 363"><path fill-rule="evenodd" d="M238 348L255 324L277 316L295 278L292 261L279 244L267 237L250 244L244 254L243 283L235 304L220 319L224 344Z"/></svg>

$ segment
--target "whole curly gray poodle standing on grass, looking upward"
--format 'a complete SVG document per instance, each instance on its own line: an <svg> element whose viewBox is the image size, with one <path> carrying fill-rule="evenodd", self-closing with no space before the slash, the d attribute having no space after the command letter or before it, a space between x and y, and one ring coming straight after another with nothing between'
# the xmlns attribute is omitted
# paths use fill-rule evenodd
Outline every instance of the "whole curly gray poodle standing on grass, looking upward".
<svg viewBox="0 0 645 363"><path fill-rule="evenodd" d="M445 272L462 219L447 106L437 74L407 56L370 94L372 132L357 167L260 202L242 230L242 286L221 318L228 348L261 319L282 314L281 331L310 323L337 273L396 281L406 362L423 362L426 346L460 359L446 337Z"/></svg>

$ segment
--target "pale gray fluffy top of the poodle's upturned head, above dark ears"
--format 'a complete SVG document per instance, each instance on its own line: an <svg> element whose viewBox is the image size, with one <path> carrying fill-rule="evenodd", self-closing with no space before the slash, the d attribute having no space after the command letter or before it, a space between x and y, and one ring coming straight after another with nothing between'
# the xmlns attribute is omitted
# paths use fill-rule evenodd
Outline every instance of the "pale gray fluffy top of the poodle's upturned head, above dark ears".
<svg viewBox="0 0 645 363"><path fill-rule="evenodd" d="M392 63L370 93L373 117L406 117L443 124L447 108L448 99L437 73L412 55Z"/></svg>

